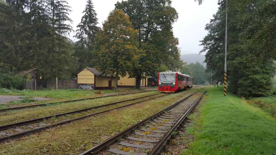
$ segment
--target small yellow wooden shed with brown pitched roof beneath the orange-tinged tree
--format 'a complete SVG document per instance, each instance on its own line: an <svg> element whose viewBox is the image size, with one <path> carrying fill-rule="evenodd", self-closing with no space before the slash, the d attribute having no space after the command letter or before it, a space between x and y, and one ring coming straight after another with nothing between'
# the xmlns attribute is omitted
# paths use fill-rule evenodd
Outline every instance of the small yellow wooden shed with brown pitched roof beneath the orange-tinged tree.
<svg viewBox="0 0 276 155"><path fill-rule="evenodd" d="M111 75L102 75L96 68L85 67L77 76L79 89L112 89L115 85Z"/></svg>

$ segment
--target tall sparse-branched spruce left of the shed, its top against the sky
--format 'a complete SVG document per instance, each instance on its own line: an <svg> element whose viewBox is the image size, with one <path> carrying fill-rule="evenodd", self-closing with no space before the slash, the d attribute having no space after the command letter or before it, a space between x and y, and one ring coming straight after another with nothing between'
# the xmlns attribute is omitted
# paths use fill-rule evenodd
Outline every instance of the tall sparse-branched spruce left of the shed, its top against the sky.
<svg viewBox="0 0 276 155"><path fill-rule="evenodd" d="M42 42L45 55L41 58L40 65L43 65L46 79L68 77L70 70L68 64L72 61L70 57L72 41L67 37L69 32L73 31L72 26L67 24L72 23L68 17L71 7L66 0L45 0L44 5L51 28L49 35L44 38L45 44Z"/></svg>

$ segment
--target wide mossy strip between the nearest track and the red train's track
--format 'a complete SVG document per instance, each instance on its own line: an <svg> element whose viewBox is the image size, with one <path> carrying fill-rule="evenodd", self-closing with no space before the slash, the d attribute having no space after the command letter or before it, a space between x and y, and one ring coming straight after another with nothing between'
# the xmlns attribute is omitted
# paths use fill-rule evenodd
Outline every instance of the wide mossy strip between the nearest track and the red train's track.
<svg viewBox="0 0 276 155"><path fill-rule="evenodd" d="M0 144L0 154L79 154L194 90L199 89L170 94L3 143Z"/></svg>

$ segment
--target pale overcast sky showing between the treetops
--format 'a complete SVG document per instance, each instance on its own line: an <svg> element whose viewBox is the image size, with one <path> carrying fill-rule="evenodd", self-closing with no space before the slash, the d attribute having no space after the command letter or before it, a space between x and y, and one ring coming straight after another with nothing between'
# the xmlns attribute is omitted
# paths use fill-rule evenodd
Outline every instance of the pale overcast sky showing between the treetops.
<svg viewBox="0 0 276 155"><path fill-rule="evenodd" d="M117 1L92 0L98 14L100 27L110 11L115 8L114 4ZM86 0L68 0L68 3L72 7L69 17L73 20L73 29L76 30L76 26L81 22ZM198 2L194 2L194 0L172 0L172 6L179 15L177 22L173 24L173 33L175 37L179 38L181 54L198 53L202 49L199 46L199 40L202 40L207 34L207 31L204 30L205 25L210 22L212 15L218 9L217 0L204 0L202 5L198 5ZM69 37L72 40L74 40L73 35L74 32Z"/></svg>

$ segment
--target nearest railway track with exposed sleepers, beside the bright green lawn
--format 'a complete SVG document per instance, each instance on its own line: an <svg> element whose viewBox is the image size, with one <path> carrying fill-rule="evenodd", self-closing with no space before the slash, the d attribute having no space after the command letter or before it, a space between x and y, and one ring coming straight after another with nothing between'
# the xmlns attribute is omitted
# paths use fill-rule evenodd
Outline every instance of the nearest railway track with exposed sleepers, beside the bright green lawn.
<svg viewBox="0 0 276 155"><path fill-rule="evenodd" d="M80 155L157 154L205 93L190 94Z"/></svg>

